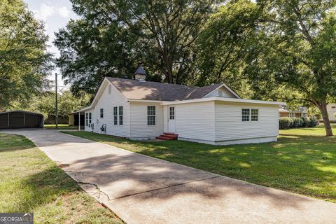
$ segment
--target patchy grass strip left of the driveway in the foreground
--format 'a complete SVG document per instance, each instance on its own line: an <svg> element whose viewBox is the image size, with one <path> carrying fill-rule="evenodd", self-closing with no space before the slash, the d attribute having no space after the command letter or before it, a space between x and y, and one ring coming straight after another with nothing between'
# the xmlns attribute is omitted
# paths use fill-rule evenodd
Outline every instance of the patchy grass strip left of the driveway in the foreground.
<svg viewBox="0 0 336 224"><path fill-rule="evenodd" d="M34 223L123 223L25 137L0 134L0 212Z"/></svg>

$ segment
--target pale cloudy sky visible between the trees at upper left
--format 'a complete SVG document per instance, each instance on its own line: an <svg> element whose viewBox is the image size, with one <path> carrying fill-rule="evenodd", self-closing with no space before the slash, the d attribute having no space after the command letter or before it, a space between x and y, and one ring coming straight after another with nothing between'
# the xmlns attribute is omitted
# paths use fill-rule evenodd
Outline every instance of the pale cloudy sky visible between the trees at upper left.
<svg viewBox="0 0 336 224"><path fill-rule="evenodd" d="M71 10L71 2L69 0L24 0L27 3L29 10L31 10L38 20L42 20L45 23L45 32L49 36L48 52L51 52L55 57L59 57L59 50L52 44L55 39L55 31L65 27L70 19L77 19L78 16ZM58 69L52 71L52 75L48 77L51 80L55 80L55 72L59 73ZM64 86L61 76L57 78L57 83L61 87L60 90L67 89Z"/></svg>

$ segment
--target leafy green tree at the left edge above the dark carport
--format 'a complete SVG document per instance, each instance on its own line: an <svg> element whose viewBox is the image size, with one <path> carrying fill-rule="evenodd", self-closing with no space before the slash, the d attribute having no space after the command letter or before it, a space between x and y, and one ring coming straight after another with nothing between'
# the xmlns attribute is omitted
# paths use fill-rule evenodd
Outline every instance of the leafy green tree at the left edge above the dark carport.
<svg viewBox="0 0 336 224"><path fill-rule="evenodd" d="M48 36L22 0L0 4L0 111L27 99L45 86L51 56Z"/></svg>

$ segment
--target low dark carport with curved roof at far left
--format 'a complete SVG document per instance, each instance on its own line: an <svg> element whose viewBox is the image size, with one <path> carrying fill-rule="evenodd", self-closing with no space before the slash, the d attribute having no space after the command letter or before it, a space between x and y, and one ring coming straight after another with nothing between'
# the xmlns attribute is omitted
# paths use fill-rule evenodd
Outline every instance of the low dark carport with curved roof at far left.
<svg viewBox="0 0 336 224"><path fill-rule="evenodd" d="M43 127L44 117L41 113L29 111L7 111L0 113L0 129Z"/></svg>

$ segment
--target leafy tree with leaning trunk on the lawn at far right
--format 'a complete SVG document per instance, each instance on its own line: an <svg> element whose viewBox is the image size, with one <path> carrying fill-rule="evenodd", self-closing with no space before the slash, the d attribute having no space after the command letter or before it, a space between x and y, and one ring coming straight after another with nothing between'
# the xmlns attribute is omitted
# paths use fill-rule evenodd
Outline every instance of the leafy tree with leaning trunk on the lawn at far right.
<svg viewBox="0 0 336 224"><path fill-rule="evenodd" d="M336 96L336 15L331 0L258 1L264 21L248 59L253 89L285 88L320 111L327 136L332 129L326 106ZM298 94L299 93L299 94Z"/></svg>

